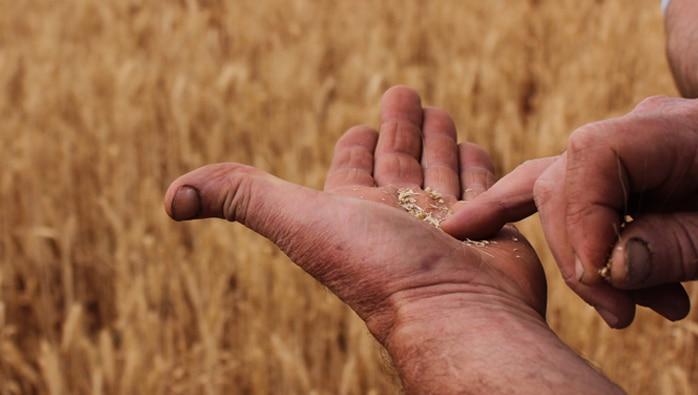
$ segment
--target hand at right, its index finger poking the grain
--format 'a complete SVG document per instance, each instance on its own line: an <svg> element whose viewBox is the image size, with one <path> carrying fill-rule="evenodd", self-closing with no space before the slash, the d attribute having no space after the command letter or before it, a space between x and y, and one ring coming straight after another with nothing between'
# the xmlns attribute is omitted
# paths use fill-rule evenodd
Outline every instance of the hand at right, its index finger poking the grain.
<svg viewBox="0 0 698 395"><path fill-rule="evenodd" d="M680 282L698 277L696 125L697 101L647 99L580 128L560 157L524 163L442 228L485 237L537 206L566 282L610 326L629 325L636 303L681 319Z"/></svg>

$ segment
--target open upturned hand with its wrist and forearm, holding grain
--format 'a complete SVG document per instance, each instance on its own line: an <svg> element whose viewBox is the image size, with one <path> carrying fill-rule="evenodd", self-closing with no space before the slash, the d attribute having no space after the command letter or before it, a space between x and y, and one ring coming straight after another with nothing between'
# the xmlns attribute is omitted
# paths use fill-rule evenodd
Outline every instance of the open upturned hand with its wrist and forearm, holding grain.
<svg viewBox="0 0 698 395"><path fill-rule="evenodd" d="M165 208L272 240L366 322L407 393L619 393L547 326L542 268L512 226L477 245L398 204L398 189L409 188L426 207L430 188L457 209L493 181L489 157L457 144L446 113L395 87L379 130L341 137L324 192L224 163L175 180Z"/></svg>

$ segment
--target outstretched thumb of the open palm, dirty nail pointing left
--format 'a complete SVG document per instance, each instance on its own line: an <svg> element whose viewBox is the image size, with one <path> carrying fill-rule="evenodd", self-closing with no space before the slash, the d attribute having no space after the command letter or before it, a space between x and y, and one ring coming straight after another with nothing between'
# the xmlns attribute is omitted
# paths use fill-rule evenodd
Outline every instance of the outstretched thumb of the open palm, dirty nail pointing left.
<svg viewBox="0 0 698 395"><path fill-rule="evenodd" d="M288 253L311 248L303 239L326 239L320 221L327 205L321 194L254 167L220 163L177 178L165 194L165 211L176 221L223 218L239 222L267 237ZM325 229L324 231L327 231ZM291 237L303 232L305 237ZM327 236L327 234L325 234Z"/></svg>

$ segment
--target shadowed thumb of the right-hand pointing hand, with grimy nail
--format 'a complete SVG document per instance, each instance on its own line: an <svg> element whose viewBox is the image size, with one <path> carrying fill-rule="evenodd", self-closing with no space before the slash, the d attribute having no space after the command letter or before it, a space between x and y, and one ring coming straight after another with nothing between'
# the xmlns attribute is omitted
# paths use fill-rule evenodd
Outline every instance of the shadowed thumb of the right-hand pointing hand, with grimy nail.
<svg viewBox="0 0 698 395"><path fill-rule="evenodd" d="M622 289L698 279L698 214L648 214L628 224L606 278Z"/></svg>

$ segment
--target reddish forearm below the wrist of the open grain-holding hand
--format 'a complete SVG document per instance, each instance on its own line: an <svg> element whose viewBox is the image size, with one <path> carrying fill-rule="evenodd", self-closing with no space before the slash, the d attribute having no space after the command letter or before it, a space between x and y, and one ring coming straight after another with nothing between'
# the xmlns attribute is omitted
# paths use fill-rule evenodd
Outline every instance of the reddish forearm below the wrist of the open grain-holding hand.
<svg viewBox="0 0 698 395"><path fill-rule="evenodd" d="M450 297L448 316L403 309L387 339L407 394L623 393L527 306Z"/></svg>

